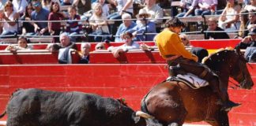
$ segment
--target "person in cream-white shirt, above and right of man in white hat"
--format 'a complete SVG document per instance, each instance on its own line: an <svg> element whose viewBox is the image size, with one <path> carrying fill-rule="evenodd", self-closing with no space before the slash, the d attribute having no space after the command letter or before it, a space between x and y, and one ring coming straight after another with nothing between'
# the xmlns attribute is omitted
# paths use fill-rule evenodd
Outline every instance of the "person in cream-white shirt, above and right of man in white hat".
<svg viewBox="0 0 256 126"><path fill-rule="evenodd" d="M150 14L150 21L156 24L157 31L160 31L161 24L163 24L164 11L156 4L156 0L145 0L145 7L143 8Z"/></svg>

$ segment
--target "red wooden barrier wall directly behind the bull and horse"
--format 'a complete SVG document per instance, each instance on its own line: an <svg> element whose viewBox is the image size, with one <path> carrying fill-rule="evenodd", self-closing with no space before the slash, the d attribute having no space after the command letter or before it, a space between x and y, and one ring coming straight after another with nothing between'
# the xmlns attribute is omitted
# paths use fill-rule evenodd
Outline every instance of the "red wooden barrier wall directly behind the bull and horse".
<svg viewBox="0 0 256 126"><path fill-rule="evenodd" d="M249 67L256 82L256 64ZM83 91L112 98L126 98L139 109L141 98L150 87L167 77L164 64L104 65L2 65L0 66L0 113L9 95L17 88L38 87L52 91ZM229 113L232 125L256 124L256 88L229 89L235 102L243 105Z"/></svg>

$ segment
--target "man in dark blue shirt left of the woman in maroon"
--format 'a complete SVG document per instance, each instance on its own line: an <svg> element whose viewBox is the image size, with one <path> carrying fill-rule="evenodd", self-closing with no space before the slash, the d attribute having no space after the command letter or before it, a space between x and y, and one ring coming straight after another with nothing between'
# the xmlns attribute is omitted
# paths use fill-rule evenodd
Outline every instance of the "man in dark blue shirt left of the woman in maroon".
<svg viewBox="0 0 256 126"><path fill-rule="evenodd" d="M44 9L39 0L33 0L32 6L34 11L32 12L32 20L47 21L49 16L49 11ZM48 31L47 22L36 22L34 23L34 31L37 35L50 35Z"/></svg>

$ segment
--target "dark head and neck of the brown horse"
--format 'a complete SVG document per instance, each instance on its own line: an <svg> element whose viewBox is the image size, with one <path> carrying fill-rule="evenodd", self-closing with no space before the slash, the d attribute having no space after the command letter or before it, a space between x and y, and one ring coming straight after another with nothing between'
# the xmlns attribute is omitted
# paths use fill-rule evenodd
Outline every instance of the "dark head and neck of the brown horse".
<svg viewBox="0 0 256 126"><path fill-rule="evenodd" d="M231 76L244 89L250 89L254 85L247 69L247 61L239 48L220 50L206 58L205 65L220 77L227 76L227 80L228 76Z"/></svg>

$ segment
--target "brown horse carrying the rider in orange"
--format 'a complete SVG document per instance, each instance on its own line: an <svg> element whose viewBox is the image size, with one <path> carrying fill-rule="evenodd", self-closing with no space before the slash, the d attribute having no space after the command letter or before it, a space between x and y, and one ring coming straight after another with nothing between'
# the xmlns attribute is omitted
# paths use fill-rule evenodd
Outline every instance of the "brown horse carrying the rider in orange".
<svg viewBox="0 0 256 126"><path fill-rule="evenodd" d="M205 65L220 76L227 88L229 76L244 89L254 85L239 49L220 50L209 56ZM214 126L228 126L228 112L222 110L220 104L220 98L209 86L192 89L185 83L171 80L152 87L141 101L141 110L152 116L149 120L154 125L181 126L184 122L203 120Z"/></svg>

